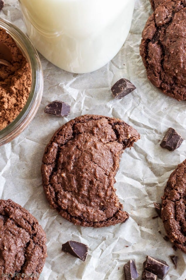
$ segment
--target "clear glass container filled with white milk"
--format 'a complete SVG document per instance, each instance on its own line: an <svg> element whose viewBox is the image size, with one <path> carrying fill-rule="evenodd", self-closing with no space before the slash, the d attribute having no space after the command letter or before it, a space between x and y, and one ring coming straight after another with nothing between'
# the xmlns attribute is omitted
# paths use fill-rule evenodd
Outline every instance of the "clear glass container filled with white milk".
<svg viewBox="0 0 186 280"><path fill-rule="evenodd" d="M19 0L35 48L74 73L104 66L130 30L134 0Z"/></svg>

